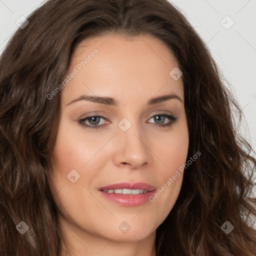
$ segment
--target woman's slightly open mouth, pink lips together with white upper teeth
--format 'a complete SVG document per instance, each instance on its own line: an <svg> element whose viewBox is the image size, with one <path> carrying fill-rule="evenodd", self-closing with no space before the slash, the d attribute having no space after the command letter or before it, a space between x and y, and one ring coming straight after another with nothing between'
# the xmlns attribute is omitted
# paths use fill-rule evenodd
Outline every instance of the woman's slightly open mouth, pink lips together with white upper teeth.
<svg viewBox="0 0 256 256"><path fill-rule="evenodd" d="M138 206L149 201L156 188L147 183L122 182L100 187L101 195L113 203L122 206Z"/></svg>

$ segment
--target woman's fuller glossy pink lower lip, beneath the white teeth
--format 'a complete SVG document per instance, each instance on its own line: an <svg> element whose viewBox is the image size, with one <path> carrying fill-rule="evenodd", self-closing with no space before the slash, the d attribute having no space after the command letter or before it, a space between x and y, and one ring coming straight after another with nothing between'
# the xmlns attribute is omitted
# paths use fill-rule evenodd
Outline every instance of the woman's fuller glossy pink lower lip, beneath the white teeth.
<svg viewBox="0 0 256 256"><path fill-rule="evenodd" d="M149 197L154 194L155 191L148 191L142 194L117 194L107 193L99 190L99 192L108 200L124 205L124 206L138 206L149 201Z"/></svg>

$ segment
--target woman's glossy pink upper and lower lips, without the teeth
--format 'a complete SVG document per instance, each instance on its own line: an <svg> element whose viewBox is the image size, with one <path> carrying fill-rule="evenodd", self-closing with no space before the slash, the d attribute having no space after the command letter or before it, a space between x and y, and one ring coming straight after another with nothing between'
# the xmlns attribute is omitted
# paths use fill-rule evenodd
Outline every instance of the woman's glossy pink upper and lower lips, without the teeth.
<svg viewBox="0 0 256 256"><path fill-rule="evenodd" d="M103 190L121 189L121 188L143 189L143 190L147 190L147 192L141 193L141 194L117 194L117 193L107 193L103 191ZM149 197L154 194L155 190L156 190L155 187L143 182L133 183L133 184L129 182L122 182L122 183L112 184L112 185L99 188L99 192L101 193L101 195L104 196L104 198L123 206L138 206L145 202L148 202Z"/></svg>

